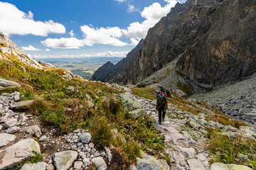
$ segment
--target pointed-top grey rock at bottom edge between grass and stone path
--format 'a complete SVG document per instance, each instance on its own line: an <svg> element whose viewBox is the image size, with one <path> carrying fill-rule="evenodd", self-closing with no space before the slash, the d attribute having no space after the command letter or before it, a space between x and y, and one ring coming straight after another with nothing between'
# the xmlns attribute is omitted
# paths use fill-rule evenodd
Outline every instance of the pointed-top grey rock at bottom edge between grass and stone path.
<svg viewBox="0 0 256 170"><path fill-rule="evenodd" d="M154 157L151 157L144 152L141 153L142 158L137 157L137 169L138 170L160 170L164 169L164 166L162 166Z"/></svg>

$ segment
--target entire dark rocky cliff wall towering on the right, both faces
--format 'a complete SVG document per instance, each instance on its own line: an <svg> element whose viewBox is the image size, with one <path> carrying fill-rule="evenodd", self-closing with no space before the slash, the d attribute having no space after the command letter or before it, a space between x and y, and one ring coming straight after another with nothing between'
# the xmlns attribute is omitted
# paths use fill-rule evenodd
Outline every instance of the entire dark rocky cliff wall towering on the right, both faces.
<svg viewBox="0 0 256 170"><path fill-rule="evenodd" d="M176 4L149 30L132 60L122 60L107 79L97 80L137 84L180 57L175 72L199 86L241 81L256 72L255 6L252 0Z"/></svg>

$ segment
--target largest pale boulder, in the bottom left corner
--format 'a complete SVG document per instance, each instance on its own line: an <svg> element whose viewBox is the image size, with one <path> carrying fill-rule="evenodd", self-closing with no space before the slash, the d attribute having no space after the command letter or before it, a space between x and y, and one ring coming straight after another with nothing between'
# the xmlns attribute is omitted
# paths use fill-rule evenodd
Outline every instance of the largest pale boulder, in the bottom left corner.
<svg viewBox="0 0 256 170"><path fill-rule="evenodd" d="M0 151L0 169L12 168L23 160L40 154L40 145L33 139L21 140Z"/></svg>

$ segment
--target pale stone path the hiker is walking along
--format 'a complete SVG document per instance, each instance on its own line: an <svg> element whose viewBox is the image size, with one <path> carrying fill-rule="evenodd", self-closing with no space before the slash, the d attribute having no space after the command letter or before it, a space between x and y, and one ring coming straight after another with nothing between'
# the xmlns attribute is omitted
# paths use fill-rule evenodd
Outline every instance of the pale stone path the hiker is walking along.
<svg viewBox="0 0 256 170"><path fill-rule="evenodd" d="M168 112L170 113L169 116L167 116L167 114L164 123L159 125L158 113L156 113L155 110L156 101L134 96L131 90L127 87L124 88L124 91L124 94L119 95L119 97L128 103L126 104L127 107L132 105L132 108L134 109L134 111L131 112L134 114L133 118L142 116L143 113L150 115L156 129L165 136L164 142L166 147L164 150L169 154L169 157L171 157L172 165L169 167L171 169L210 169L210 164L208 163L210 156L206 148L205 137L207 132L203 130L206 126L209 126L210 128L220 128L223 129L224 132L233 134L242 132L244 137L250 137L256 141L256 133L253 128L240 127L240 129L238 129L213 121L207 122L204 120L206 117L204 113L193 115L192 113L183 112L173 107L174 105L171 103L169 103L168 109ZM212 113L211 111L207 112ZM164 169L169 168L165 167ZM211 168L211 170L213 168ZM137 166L137 169L143 168Z"/></svg>

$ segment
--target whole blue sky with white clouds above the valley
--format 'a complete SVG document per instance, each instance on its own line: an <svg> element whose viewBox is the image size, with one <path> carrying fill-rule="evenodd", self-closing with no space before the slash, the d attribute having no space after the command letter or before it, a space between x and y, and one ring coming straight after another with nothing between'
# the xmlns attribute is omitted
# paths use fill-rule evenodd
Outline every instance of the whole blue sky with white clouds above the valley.
<svg viewBox="0 0 256 170"><path fill-rule="evenodd" d="M0 31L32 57L124 57L176 2L0 1Z"/></svg>

